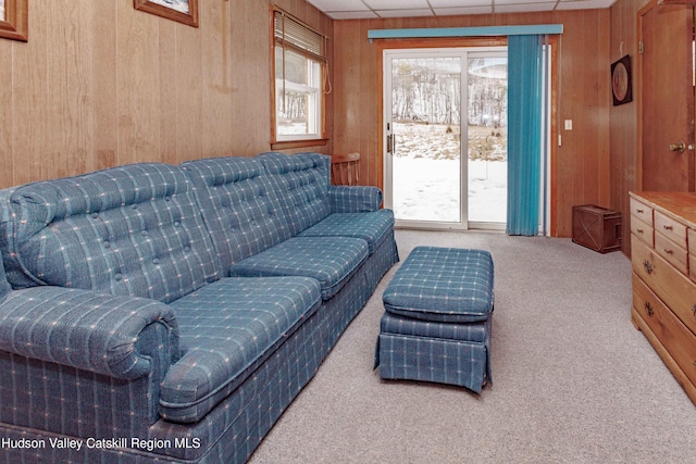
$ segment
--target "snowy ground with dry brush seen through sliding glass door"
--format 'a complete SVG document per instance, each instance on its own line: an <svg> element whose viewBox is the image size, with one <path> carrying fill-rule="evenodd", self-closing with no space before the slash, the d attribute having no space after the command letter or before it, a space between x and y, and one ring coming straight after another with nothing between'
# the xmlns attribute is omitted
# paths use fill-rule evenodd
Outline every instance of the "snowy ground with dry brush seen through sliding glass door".
<svg viewBox="0 0 696 464"><path fill-rule="evenodd" d="M459 126L395 123L394 212L399 220L459 222ZM507 133L469 127L469 221L507 220ZM488 148L488 156L477 155Z"/></svg>

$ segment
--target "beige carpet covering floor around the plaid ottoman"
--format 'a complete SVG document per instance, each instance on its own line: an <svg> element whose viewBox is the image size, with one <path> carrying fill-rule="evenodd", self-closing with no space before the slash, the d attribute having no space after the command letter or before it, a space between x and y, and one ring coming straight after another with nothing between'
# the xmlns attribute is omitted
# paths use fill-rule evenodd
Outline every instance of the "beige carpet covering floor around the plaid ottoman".
<svg viewBox="0 0 696 464"><path fill-rule="evenodd" d="M250 462L696 463L696 407L630 319L631 263L570 239L398 230L489 250L493 380L480 396L372 369L382 280Z"/></svg>

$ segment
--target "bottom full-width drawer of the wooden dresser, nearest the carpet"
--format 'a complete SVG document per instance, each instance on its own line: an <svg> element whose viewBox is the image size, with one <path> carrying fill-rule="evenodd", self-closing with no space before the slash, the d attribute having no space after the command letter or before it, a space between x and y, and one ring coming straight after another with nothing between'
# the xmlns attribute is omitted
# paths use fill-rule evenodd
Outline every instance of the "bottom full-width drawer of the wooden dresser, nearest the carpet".
<svg viewBox="0 0 696 464"><path fill-rule="evenodd" d="M635 274L633 274L633 309L657 336L688 379L696 384L694 365L696 336Z"/></svg>

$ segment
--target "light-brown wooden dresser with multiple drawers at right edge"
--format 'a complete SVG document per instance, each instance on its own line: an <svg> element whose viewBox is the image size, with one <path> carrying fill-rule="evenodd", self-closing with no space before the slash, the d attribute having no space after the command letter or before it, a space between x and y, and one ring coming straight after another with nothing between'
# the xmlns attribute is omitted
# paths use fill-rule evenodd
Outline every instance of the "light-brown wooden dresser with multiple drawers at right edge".
<svg viewBox="0 0 696 464"><path fill-rule="evenodd" d="M696 403L696 193L631 192L631 319Z"/></svg>

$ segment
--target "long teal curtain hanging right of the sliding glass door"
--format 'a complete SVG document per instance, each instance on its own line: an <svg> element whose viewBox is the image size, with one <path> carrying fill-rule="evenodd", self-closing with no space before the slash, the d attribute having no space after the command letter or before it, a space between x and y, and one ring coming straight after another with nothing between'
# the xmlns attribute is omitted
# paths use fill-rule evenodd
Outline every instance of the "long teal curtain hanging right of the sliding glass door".
<svg viewBox="0 0 696 464"><path fill-rule="evenodd" d="M508 235L538 235L544 36L508 37Z"/></svg>

